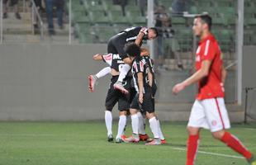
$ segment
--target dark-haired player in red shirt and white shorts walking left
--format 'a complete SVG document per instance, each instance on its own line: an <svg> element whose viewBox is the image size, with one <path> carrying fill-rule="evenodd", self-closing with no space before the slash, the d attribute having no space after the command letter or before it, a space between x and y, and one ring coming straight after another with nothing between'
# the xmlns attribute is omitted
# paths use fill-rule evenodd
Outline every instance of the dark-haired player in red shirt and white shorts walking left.
<svg viewBox="0 0 256 165"><path fill-rule="evenodd" d="M199 15L194 19L192 27L194 35L200 37L196 53L197 72L173 87L173 93L183 91L192 83L198 82L197 99L187 124L187 165L195 163L201 128L211 130L215 139L219 139L256 165L252 153L226 129L230 128L230 120L224 102L224 83L226 71L220 56L220 46L211 34L211 16Z"/></svg>

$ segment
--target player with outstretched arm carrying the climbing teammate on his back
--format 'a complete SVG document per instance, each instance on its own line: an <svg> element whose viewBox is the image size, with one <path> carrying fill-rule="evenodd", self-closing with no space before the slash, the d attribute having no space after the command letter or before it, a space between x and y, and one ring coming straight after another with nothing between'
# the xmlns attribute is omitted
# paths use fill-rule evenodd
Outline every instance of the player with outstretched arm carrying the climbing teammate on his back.
<svg viewBox="0 0 256 165"><path fill-rule="evenodd" d="M107 64L111 66L111 85L107 92L107 98L105 101L106 111L105 111L105 123L107 127L107 140L109 142L113 141L112 135L112 114L111 111L113 107L118 102L118 110L119 110L119 123L118 123L118 132L116 134L116 143L121 143L124 139L124 129L126 127L126 111L129 110L130 107L130 95L125 95L120 91L114 89L113 85L118 79L119 75L119 65L124 64L119 54L96 54L93 56L95 60L103 60ZM124 87L127 91L130 91L130 79L131 77L126 76L124 79Z"/></svg>

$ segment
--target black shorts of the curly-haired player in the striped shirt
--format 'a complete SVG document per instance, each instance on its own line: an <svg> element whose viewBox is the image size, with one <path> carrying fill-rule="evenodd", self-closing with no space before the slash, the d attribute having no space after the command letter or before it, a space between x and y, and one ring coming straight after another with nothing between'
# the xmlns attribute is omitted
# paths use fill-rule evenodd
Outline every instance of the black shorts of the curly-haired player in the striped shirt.
<svg viewBox="0 0 256 165"><path fill-rule="evenodd" d="M154 112L154 98L152 97L151 87L145 87L145 93L143 95L143 103L139 103L139 94L137 93L130 104L131 109L140 110L142 113L146 111L149 113Z"/></svg>

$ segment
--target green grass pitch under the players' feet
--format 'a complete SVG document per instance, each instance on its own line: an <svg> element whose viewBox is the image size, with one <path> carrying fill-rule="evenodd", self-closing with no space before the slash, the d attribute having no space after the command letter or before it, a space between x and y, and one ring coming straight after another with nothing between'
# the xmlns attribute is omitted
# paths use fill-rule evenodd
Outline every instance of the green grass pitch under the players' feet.
<svg viewBox="0 0 256 165"><path fill-rule="evenodd" d="M103 121L1 122L0 165L184 165L186 124L163 122L162 128L168 144L145 146L107 142ZM116 130L115 121L114 134ZM256 153L256 123L233 125L230 131ZM126 134L130 132L129 124ZM199 151L197 165L247 164L239 154L212 139L208 130L201 131Z"/></svg>

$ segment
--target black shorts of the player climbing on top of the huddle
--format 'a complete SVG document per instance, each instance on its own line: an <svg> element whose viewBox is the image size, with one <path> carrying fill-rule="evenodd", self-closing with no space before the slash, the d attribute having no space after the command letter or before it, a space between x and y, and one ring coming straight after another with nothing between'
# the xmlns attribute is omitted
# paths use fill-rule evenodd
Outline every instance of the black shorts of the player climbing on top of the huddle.
<svg viewBox="0 0 256 165"><path fill-rule="evenodd" d="M119 54L121 59L128 58L126 51L124 50L126 45L125 35L114 35L107 42L107 53L108 54Z"/></svg>

